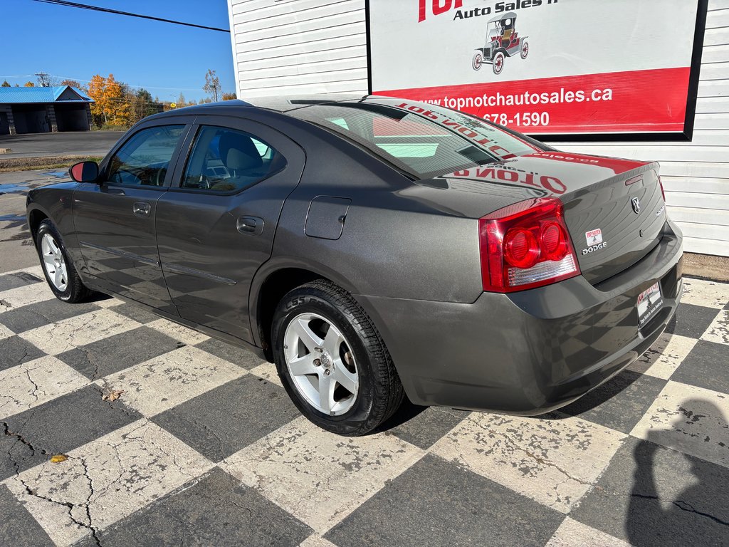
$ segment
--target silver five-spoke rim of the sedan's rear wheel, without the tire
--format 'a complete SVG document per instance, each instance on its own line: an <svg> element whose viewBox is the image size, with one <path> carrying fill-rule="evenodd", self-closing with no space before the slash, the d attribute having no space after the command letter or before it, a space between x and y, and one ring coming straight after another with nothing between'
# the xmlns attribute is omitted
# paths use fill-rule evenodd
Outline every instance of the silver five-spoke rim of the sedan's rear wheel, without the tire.
<svg viewBox="0 0 729 547"><path fill-rule="evenodd" d="M359 371L351 346L329 319L299 314L286 327L284 356L294 387L322 414L340 416L354 405Z"/></svg>

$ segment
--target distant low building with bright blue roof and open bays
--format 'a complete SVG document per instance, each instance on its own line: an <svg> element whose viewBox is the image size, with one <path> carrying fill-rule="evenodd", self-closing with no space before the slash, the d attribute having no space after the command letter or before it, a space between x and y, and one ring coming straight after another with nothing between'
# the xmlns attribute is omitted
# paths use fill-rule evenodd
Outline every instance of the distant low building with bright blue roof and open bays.
<svg viewBox="0 0 729 547"><path fill-rule="evenodd" d="M93 99L70 85L0 87L0 135L89 131Z"/></svg>

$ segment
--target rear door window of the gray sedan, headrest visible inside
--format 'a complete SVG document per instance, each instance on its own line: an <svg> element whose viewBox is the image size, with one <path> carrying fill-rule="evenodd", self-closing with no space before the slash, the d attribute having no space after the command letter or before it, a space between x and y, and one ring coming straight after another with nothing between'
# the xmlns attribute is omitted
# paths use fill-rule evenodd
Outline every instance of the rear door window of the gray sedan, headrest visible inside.
<svg viewBox="0 0 729 547"><path fill-rule="evenodd" d="M212 193L240 192L284 166L284 156L249 133L203 125L195 138L182 188Z"/></svg>

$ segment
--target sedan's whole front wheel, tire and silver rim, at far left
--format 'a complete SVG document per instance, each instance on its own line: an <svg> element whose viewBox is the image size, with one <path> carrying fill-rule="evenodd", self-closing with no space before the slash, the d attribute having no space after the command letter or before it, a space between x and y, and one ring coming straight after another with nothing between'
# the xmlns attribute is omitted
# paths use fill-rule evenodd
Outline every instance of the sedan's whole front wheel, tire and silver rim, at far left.
<svg viewBox="0 0 729 547"><path fill-rule="evenodd" d="M61 234L50 220L44 220L38 227L36 246L43 273L55 297L70 303L86 298L89 290L81 282Z"/></svg>

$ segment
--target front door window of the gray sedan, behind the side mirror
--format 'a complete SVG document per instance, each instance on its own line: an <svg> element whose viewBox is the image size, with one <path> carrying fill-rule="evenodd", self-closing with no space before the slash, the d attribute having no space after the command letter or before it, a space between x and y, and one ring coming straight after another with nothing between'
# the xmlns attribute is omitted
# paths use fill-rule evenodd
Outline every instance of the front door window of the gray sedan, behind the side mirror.
<svg viewBox="0 0 729 547"><path fill-rule="evenodd" d="M163 186L183 130L184 125L159 125L135 133L109 162L109 182Z"/></svg>

